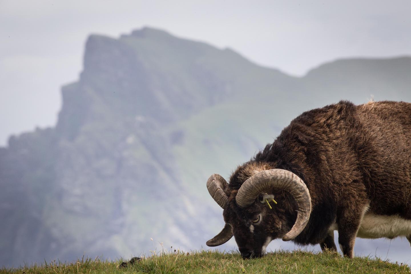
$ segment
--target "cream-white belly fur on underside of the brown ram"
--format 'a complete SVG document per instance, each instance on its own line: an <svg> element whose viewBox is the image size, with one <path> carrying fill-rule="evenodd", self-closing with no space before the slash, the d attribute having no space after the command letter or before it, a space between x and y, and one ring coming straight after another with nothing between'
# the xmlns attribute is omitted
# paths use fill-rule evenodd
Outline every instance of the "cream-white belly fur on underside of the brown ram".
<svg viewBox="0 0 411 274"><path fill-rule="evenodd" d="M329 231L338 230L337 224L332 224ZM411 235L411 220L402 219L398 215L364 214L358 229L357 237L376 239L406 237Z"/></svg>

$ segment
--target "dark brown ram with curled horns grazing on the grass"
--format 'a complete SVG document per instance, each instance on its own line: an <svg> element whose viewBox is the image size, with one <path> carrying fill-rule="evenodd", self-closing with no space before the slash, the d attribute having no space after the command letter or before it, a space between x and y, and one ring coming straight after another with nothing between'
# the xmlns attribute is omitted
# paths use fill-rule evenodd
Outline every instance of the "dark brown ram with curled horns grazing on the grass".
<svg viewBox="0 0 411 274"><path fill-rule="evenodd" d="M320 244L353 258L356 237L411 243L411 104L348 101L302 113L272 144L207 188L243 258L276 238Z"/></svg>

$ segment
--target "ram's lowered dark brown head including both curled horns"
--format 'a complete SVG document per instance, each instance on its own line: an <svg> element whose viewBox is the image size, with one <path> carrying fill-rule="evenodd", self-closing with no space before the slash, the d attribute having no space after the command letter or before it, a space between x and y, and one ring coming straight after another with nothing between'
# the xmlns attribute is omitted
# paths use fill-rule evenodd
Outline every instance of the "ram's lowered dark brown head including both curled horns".
<svg viewBox="0 0 411 274"><path fill-rule="evenodd" d="M304 182L291 171L278 169L276 163L245 163L231 175L229 184L213 174L207 189L224 209L226 222L207 245L218 246L234 236L243 258L263 256L273 239L297 237L311 212Z"/></svg>

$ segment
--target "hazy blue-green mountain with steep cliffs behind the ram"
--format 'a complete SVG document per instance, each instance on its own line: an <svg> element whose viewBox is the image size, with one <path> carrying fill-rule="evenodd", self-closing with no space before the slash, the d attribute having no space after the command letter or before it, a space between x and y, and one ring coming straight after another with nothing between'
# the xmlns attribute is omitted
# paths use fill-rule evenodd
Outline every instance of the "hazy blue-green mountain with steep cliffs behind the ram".
<svg viewBox="0 0 411 274"><path fill-rule="evenodd" d="M91 35L56 126L0 147L0 265L206 248L223 226L212 173L229 177L303 111L411 101L410 71L410 57L351 59L296 78L157 29ZM411 248L357 239L355 252L404 262Z"/></svg>

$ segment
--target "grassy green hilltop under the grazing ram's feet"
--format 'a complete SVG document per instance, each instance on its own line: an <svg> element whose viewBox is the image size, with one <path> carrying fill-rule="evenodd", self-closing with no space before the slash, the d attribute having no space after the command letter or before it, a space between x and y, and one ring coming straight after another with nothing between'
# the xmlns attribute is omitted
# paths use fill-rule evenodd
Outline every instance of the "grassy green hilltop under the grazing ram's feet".
<svg viewBox="0 0 411 274"><path fill-rule="evenodd" d="M26 266L18 269L2 269L0 273L13 274L99 274L99 273L410 273L407 265L391 263L381 259L355 257L342 258L333 252L311 253L304 251L277 251L263 258L243 260L239 253L220 253L218 251L164 253L142 258L133 265L119 267L122 260L107 261L81 259L76 262L51 262L43 265Z"/></svg>

